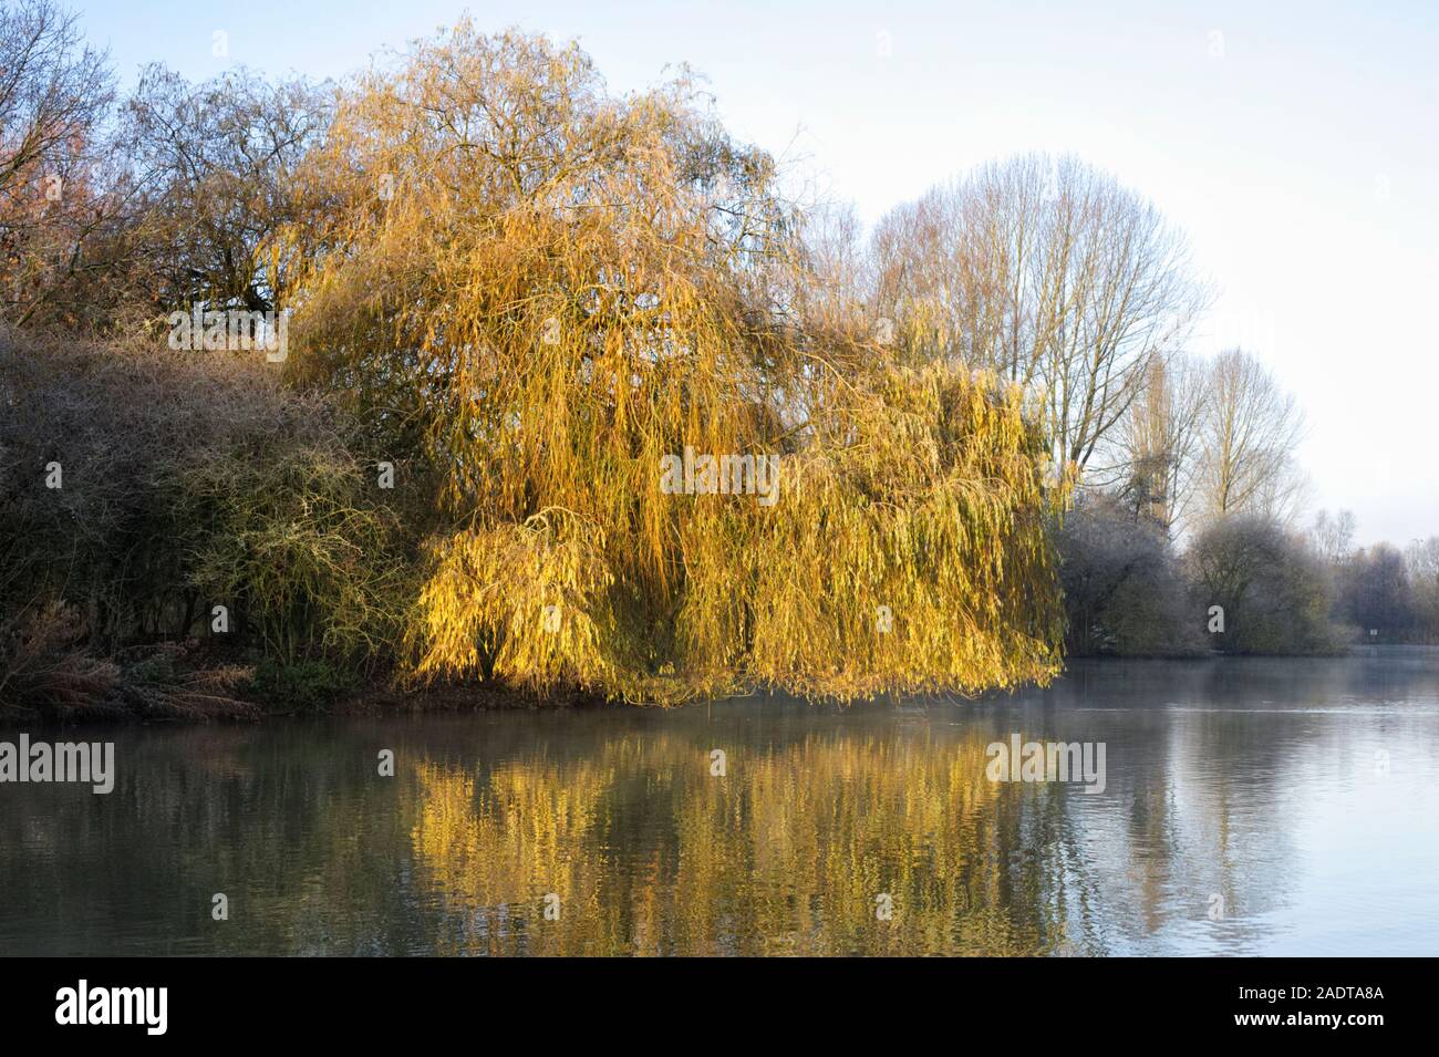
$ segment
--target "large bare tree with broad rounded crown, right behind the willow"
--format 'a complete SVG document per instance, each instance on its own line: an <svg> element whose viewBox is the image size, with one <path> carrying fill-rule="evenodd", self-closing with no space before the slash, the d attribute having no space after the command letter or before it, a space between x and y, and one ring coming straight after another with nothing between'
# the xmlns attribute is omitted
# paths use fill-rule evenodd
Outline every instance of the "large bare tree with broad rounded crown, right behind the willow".
<svg viewBox="0 0 1439 1057"><path fill-rule="evenodd" d="M1183 236L1073 157L937 187L881 221L873 253L881 312L908 347L1035 387L1056 460L1099 483L1122 467L1108 441L1150 364L1209 302Z"/></svg>

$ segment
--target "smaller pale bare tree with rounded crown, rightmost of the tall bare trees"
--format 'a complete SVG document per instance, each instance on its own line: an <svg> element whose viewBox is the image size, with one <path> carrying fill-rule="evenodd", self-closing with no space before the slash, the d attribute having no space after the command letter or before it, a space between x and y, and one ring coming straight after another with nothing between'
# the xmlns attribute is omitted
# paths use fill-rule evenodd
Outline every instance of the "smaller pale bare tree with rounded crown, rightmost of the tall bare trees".
<svg viewBox="0 0 1439 1057"><path fill-rule="evenodd" d="M1238 348L1219 354L1202 430L1204 513L1292 521L1308 483L1294 460L1302 437L1304 413L1263 364Z"/></svg>

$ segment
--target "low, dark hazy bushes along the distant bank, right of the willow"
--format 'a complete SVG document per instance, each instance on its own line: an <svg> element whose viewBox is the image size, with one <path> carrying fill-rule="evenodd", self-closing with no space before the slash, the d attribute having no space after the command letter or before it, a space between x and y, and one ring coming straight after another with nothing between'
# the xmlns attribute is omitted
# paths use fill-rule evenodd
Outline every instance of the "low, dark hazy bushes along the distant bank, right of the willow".
<svg viewBox="0 0 1439 1057"><path fill-rule="evenodd" d="M1338 653L1439 643L1439 536L1353 545L1354 518L1305 529L1263 513L1174 542L1112 492L1079 498L1058 534L1073 656Z"/></svg>

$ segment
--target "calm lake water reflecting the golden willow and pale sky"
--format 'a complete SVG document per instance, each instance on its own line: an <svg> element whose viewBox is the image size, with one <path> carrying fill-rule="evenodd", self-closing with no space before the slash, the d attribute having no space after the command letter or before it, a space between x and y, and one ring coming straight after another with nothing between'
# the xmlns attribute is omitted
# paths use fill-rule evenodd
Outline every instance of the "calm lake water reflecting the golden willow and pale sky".
<svg viewBox="0 0 1439 1057"><path fill-rule="evenodd" d="M1012 733L1104 742L1104 792L989 781ZM119 774L0 785L0 953L1439 953L1435 650L32 736Z"/></svg>

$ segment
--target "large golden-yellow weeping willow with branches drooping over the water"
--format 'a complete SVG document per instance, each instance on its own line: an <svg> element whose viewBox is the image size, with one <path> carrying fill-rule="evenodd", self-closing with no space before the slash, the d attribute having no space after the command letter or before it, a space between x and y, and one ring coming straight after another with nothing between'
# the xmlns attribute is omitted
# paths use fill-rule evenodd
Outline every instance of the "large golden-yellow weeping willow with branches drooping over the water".
<svg viewBox="0 0 1439 1057"><path fill-rule="evenodd" d="M344 89L301 178L327 207L271 250L288 370L433 482L414 679L673 702L1055 672L1022 394L809 311L771 160L689 81L614 98L573 46L460 23Z"/></svg>

